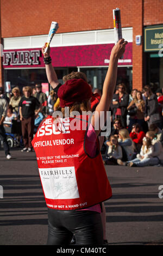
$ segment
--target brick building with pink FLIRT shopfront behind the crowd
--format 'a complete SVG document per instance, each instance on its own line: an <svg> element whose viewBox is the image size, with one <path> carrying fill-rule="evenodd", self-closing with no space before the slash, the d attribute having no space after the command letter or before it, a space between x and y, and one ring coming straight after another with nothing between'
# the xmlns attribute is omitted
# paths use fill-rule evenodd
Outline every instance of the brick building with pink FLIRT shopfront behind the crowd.
<svg viewBox="0 0 163 256"><path fill-rule="evenodd" d="M7 81L11 87L47 83L41 47L51 22L57 21L51 56L59 80L80 70L94 88L102 88L114 45L112 9L118 7L128 45L118 63L117 82L126 83L128 91L147 83L163 87L162 4L163 0L1 0L0 86ZM136 35L141 36L140 45Z"/></svg>

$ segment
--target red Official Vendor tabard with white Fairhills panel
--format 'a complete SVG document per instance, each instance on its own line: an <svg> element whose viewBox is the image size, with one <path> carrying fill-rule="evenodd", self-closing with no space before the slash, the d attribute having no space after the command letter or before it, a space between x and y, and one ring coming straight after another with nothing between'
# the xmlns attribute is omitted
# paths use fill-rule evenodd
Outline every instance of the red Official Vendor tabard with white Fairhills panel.
<svg viewBox="0 0 163 256"><path fill-rule="evenodd" d="M86 126L78 116L60 119L58 130L48 116L37 130L32 145L48 208L84 209L112 196L100 151L93 158L85 152Z"/></svg>

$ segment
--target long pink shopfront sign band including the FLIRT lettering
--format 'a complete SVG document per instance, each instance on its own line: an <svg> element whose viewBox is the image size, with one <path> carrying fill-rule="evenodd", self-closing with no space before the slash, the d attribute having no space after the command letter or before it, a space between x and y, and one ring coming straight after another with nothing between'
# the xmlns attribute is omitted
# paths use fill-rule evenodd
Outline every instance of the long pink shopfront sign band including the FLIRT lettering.
<svg viewBox="0 0 163 256"><path fill-rule="evenodd" d="M114 44L79 45L51 47L52 65L54 67L108 66L111 49ZM10 68L45 68L40 48L5 51L4 69ZM128 42L124 58L118 65L132 65L132 42Z"/></svg>

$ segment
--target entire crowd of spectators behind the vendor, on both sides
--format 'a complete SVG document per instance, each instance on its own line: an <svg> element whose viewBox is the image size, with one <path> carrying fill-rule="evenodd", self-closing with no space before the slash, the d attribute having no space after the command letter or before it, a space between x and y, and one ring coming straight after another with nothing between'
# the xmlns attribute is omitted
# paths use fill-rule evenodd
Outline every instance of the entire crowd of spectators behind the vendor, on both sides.
<svg viewBox="0 0 163 256"><path fill-rule="evenodd" d="M82 76L86 80L85 74L81 74L81 72L79 75L78 72L72 72L63 80L66 82L77 76ZM10 159L11 156L4 135L6 127L12 124L12 120L20 120L23 138L21 150L32 151L31 142L43 118L60 110L60 100L57 94L60 86L61 84L58 84L57 89L52 89L48 97L42 92L41 84L36 84L34 88L23 87L22 94L20 88L16 86L12 89L11 94L8 94L9 97L3 93L2 88L0 89L1 99L3 99L3 103L1 103L1 106L3 105L1 107L1 119L3 117L1 120L1 139L7 159ZM101 96L101 90L92 89L92 103L95 107ZM128 94L125 84L118 84L109 109L111 111L111 133L103 139L104 164L128 166L162 164L162 109L163 94L161 89L152 92L151 87L146 85L142 92L133 89ZM151 136L148 136L148 133ZM144 155L142 156L142 154Z"/></svg>

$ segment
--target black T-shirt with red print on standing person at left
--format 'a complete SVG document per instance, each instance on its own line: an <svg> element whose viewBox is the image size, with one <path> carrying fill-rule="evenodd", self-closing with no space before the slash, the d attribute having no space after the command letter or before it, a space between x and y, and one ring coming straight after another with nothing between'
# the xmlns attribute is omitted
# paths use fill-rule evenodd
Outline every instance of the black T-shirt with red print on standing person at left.
<svg viewBox="0 0 163 256"><path fill-rule="evenodd" d="M23 118L27 119L34 116L35 109L40 106L40 102L36 97L30 96L29 98L26 98L25 96L22 96L19 106L22 107Z"/></svg>

